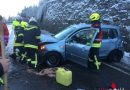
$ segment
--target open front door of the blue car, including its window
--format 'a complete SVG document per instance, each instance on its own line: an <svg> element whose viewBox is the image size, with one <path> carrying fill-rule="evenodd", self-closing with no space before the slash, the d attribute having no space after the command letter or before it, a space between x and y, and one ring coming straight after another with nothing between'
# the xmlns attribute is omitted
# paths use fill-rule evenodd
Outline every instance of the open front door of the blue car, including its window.
<svg viewBox="0 0 130 90"><path fill-rule="evenodd" d="M67 59L87 65L88 54L96 35L96 29L82 29L74 33L66 40L65 50ZM91 36L91 37L90 37Z"/></svg>

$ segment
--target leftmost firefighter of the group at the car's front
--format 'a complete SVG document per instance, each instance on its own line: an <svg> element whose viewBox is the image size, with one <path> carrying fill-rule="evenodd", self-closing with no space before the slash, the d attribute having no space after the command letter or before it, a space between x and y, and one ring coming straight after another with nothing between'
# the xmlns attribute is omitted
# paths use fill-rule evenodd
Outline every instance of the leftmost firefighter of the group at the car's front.
<svg viewBox="0 0 130 90"><path fill-rule="evenodd" d="M16 59L16 57L21 58L21 53L23 52L23 30L24 28L21 25L22 18L17 17L13 21L13 29L15 34L15 40L14 40L14 53L10 55L13 59Z"/></svg>

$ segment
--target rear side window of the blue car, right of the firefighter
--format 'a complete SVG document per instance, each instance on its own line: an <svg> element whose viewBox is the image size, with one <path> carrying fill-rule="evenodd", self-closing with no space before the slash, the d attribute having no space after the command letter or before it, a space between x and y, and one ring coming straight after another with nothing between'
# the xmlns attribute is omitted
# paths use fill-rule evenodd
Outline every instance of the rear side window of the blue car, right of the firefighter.
<svg viewBox="0 0 130 90"><path fill-rule="evenodd" d="M114 39L118 36L116 29L103 28L103 39Z"/></svg>

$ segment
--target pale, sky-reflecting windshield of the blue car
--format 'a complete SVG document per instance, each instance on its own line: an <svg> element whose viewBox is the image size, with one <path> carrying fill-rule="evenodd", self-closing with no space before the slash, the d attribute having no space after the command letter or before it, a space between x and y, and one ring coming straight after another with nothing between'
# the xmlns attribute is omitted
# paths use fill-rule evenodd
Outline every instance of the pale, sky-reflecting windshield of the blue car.
<svg viewBox="0 0 130 90"><path fill-rule="evenodd" d="M54 37L58 40L63 40L64 38L66 38L66 36L68 36L73 30L75 29L75 27L68 27L64 30L62 30L61 32L59 32L58 34L56 34Z"/></svg>

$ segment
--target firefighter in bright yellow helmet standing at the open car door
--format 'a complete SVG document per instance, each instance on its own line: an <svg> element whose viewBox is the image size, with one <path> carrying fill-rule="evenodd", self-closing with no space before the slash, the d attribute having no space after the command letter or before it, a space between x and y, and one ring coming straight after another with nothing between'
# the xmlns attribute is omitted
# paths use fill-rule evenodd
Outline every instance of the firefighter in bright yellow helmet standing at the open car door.
<svg viewBox="0 0 130 90"><path fill-rule="evenodd" d="M103 33L101 31L100 14L92 13L90 15L91 26L98 28L98 34L96 35L92 47L89 52L88 68L91 70L100 70L101 62L99 59L99 49L101 48Z"/></svg>

